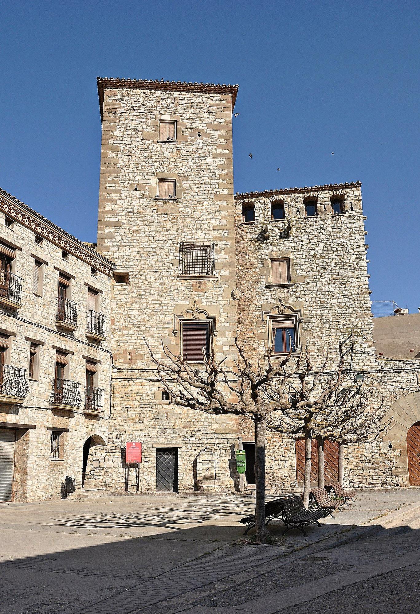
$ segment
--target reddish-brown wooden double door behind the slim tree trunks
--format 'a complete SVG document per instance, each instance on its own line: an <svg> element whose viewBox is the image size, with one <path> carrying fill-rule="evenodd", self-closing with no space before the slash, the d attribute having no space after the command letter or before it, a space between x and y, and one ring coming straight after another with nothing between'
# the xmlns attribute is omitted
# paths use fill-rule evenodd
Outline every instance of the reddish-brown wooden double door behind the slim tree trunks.
<svg viewBox="0 0 420 614"><path fill-rule="evenodd" d="M305 477L305 440L295 442L297 485L303 486ZM324 484L338 480L338 443L324 441ZM318 486L318 442L311 442L311 486Z"/></svg>

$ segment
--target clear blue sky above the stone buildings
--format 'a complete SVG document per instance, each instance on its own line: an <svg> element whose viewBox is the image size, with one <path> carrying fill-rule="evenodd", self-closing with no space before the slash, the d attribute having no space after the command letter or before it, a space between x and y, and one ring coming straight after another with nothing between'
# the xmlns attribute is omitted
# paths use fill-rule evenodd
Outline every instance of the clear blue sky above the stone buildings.
<svg viewBox="0 0 420 614"><path fill-rule="evenodd" d="M0 185L95 241L96 76L239 84L235 191L362 181L371 298L416 311L418 7L4 0Z"/></svg>

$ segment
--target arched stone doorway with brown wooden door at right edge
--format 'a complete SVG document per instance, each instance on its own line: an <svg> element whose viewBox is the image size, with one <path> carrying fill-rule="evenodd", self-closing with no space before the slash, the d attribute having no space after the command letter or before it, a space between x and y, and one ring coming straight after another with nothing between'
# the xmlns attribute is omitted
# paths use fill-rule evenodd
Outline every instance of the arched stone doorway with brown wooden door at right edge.
<svg viewBox="0 0 420 614"><path fill-rule="evenodd" d="M392 475L401 486L420 486L420 392L412 392L392 403L388 415L391 429L384 437L393 446ZM416 469L417 462L417 469Z"/></svg>

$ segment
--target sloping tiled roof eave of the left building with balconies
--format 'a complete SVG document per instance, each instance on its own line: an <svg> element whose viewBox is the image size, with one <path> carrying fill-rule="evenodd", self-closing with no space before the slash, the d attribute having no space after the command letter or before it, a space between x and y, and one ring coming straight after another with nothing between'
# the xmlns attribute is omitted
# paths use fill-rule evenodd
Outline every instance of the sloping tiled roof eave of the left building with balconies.
<svg viewBox="0 0 420 614"><path fill-rule="evenodd" d="M31 209L25 203L12 196L5 190L0 188L0 210L4 212L10 219L21 223L29 228L37 235L51 241L51 243L65 249L69 254L74 255L80 260L89 263L108 276L112 276L116 265L108 258L96 252L91 247L87 247L82 241L79 241L75 236L69 235L65 230L51 222L46 217L39 214L34 209Z"/></svg>

